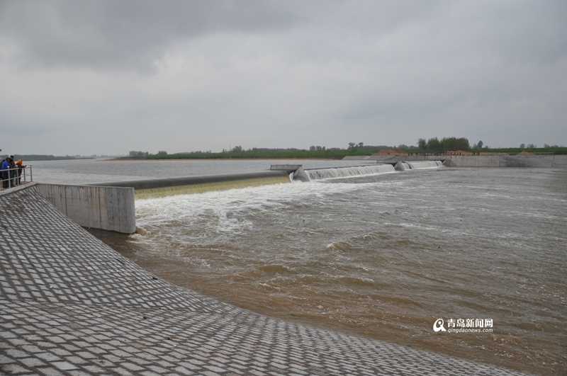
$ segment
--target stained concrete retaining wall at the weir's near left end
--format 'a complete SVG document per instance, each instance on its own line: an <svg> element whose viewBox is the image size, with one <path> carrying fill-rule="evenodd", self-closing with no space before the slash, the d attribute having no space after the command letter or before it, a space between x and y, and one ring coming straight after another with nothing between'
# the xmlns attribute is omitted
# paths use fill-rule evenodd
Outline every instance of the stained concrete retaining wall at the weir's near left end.
<svg viewBox="0 0 567 376"><path fill-rule="evenodd" d="M136 231L134 188L37 186L40 195L80 226L124 234Z"/></svg>

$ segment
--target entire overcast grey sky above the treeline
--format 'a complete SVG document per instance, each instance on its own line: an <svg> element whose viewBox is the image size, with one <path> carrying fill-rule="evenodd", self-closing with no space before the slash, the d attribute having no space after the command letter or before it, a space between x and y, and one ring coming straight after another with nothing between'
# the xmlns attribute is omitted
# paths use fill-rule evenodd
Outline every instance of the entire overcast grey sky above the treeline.
<svg viewBox="0 0 567 376"><path fill-rule="evenodd" d="M567 146L567 1L0 0L0 148Z"/></svg>

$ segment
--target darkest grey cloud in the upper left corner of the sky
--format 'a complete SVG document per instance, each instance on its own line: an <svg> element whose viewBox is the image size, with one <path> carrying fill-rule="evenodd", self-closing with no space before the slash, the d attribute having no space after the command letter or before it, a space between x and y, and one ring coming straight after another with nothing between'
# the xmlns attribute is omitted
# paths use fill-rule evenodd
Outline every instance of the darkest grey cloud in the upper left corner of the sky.
<svg viewBox="0 0 567 376"><path fill-rule="evenodd" d="M280 1L4 1L0 32L19 62L148 69L170 43L205 33L280 30L299 20Z"/></svg>

